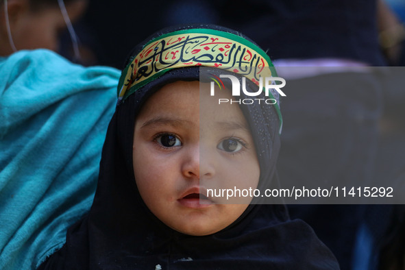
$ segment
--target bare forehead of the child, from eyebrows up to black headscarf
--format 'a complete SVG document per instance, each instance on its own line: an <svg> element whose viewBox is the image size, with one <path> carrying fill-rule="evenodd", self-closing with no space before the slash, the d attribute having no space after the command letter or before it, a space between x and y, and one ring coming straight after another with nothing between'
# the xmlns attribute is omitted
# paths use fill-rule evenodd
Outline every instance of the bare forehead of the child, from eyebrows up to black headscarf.
<svg viewBox="0 0 405 270"><path fill-rule="evenodd" d="M238 103L218 103L219 98L232 97L230 90L223 89L212 97L209 86L204 82L182 80L165 84L146 101L138 118L161 125L165 122L176 125L180 121L204 121L204 126L210 124L221 129L234 127L235 130L247 130L248 125Z"/></svg>

